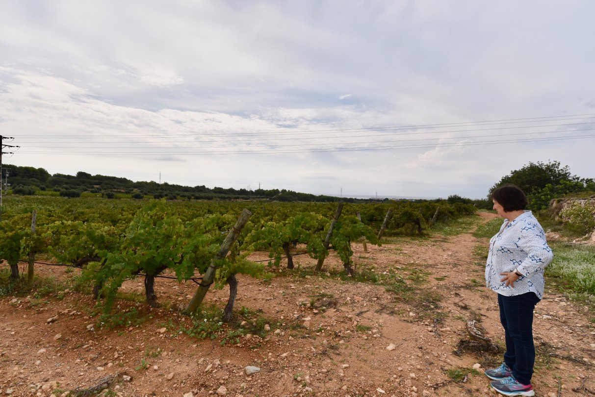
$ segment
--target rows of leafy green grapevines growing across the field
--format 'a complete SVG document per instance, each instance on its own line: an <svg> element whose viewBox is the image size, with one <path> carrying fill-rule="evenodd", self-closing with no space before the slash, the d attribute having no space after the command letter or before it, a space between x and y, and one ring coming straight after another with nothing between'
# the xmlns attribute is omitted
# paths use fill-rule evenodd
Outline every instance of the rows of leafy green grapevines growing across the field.
<svg viewBox="0 0 595 397"><path fill-rule="evenodd" d="M11 278L18 279L18 263L26 257L29 283L33 281L35 258L42 255L81 267L82 279L93 283L94 297L102 298L106 312L111 310L122 283L134 276L145 278L146 303L155 307L155 277L167 270L179 281L204 278L199 284L203 291L197 292L203 296L212 284L215 288L234 285L237 274L270 278L271 270L281 267L282 261L292 269L292 249L318 260L318 272L332 249L353 276L352 242L379 244L378 238L385 231L421 235L431 223L474 212L469 204L446 201L347 204L343 209L343 203L151 200L139 206L132 200L13 200L0 222L4 235L0 259L10 264ZM245 216L241 226L236 223L240 214ZM236 235L222 248L230 231ZM267 251L268 263L248 260L255 251ZM227 319L231 318L233 299L231 296ZM196 311L201 301L197 297L186 311Z"/></svg>

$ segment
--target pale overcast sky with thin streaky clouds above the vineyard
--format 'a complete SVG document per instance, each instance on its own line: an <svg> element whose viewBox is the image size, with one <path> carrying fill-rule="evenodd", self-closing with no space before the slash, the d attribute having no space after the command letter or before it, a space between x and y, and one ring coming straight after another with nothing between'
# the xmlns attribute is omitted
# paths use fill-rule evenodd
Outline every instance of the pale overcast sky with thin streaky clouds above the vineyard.
<svg viewBox="0 0 595 397"><path fill-rule="evenodd" d="M356 197L595 177L595 2L0 2L2 162ZM9 181L10 182L10 181Z"/></svg>

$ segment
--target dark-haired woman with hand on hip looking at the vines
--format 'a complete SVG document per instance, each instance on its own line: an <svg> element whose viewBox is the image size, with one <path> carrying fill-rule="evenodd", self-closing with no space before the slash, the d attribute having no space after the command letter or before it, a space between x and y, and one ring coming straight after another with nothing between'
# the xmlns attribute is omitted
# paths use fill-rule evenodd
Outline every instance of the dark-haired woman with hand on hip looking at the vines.
<svg viewBox="0 0 595 397"><path fill-rule="evenodd" d="M533 309L543 297L543 272L552 261L546 234L531 211L527 197L514 185L491 194L494 210L505 218L490 240L486 284L498 294L506 352L499 368L486 371L491 387L506 396L533 396L535 362Z"/></svg>

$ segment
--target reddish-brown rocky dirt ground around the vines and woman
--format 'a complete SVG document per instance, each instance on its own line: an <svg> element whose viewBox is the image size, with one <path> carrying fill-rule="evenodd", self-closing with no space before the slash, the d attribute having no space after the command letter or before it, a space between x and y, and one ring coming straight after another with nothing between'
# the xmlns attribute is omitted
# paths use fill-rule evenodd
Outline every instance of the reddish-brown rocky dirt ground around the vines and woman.
<svg viewBox="0 0 595 397"><path fill-rule="evenodd" d="M477 223L495 216L481 213ZM320 275L306 271L313 260L297 256L299 269L272 281L239 276L236 310L249 308L271 329L264 338L224 345L237 324L213 340L180 333L190 319L176 307L189 302L192 282L157 279L162 307L152 310L134 301L142 279L127 282L123 289L132 294L116 312L133 307L145 319L127 327L101 327L89 295L67 285L58 294L1 298L0 395L495 396L483 369L499 365L501 354L456 352L470 340L468 320L503 345L496 295L484 286L478 256L487 241L469 232L387 241L368 244L368 252L353 244L353 258L357 272L394 281L394 288L343 281L334 257ZM36 273L59 282L76 275L43 265ZM223 307L228 293L211 289L206 305ZM595 324L588 316L546 289L534 320L536 396L594 395ZM260 371L247 375L246 366ZM109 388L98 393L103 386Z"/></svg>

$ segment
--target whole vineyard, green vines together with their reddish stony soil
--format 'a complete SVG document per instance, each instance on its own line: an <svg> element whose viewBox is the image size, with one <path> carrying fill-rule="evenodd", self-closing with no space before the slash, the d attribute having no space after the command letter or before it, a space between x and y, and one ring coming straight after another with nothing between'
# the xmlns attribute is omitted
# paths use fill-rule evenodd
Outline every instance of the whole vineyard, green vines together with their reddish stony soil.
<svg viewBox="0 0 595 397"><path fill-rule="evenodd" d="M502 344L487 240L471 235L494 218L446 202L10 197L0 392L491 395L481 369L501 357L464 346L468 320ZM586 308L547 295L534 385L590 390Z"/></svg>

